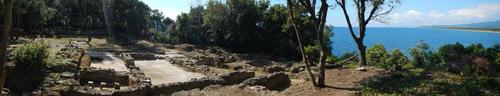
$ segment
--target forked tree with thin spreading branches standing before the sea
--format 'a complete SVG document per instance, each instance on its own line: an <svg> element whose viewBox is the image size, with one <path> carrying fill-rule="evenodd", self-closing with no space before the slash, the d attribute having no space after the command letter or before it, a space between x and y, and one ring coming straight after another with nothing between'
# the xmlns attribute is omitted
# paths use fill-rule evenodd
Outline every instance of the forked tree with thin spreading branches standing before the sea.
<svg viewBox="0 0 500 96"><path fill-rule="evenodd" d="M358 33L359 36L354 32L351 19L349 17L349 13L347 12L346 2L345 0L335 0L336 3L342 9L344 13L345 20L347 22L347 26L349 28L349 32L351 33L352 38L356 42L358 46L360 62L361 66L366 65L366 46L363 43L363 40L366 35L366 25L372 20L376 20L379 22L383 22L381 17L388 14L394 9L396 4L399 4L399 0L353 0L355 3L355 7L357 9L357 20L358 20ZM367 6L371 7L369 13L367 12ZM388 8L388 9L386 9ZM368 17L366 17L368 16Z"/></svg>

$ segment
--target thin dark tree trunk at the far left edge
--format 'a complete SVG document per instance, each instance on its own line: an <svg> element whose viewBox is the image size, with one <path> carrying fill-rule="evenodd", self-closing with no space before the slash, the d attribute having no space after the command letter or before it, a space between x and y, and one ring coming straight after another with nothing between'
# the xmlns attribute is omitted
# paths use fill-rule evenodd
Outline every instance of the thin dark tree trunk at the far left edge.
<svg viewBox="0 0 500 96"><path fill-rule="evenodd" d="M3 86L5 82L5 77L6 77L6 70L5 70L5 63L6 62L6 55L7 55L7 46L8 46L8 38L9 38L9 33L11 31L12 27L12 0L3 0L4 2L4 29L2 34L0 34L0 95L3 92Z"/></svg>

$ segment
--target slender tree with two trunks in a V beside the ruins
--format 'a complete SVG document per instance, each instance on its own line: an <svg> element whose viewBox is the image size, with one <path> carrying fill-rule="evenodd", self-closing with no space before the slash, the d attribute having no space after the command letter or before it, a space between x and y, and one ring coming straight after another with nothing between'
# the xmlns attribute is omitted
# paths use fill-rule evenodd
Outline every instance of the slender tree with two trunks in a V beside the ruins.
<svg viewBox="0 0 500 96"><path fill-rule="evenodd" d="M300 32L298 32L298 28L296 26L296 24L294 23L294 21L292 20L292 24L294 26L294 29L295 29L295 32L297 34L297 39L298 39L298 43L299 43L299 47L300 47L300 50L301 50L301 54L302 54L302 60L304 61L304 63L306 64L306 69L309 73L309 76L310 78L312 79L312 83L314 86L316 87L325 87L325 61L326 61L326 52L325 51L329 51L327 50L327 44L325 42L325 39L324 39L324 29L325 29L325 22L326 22L326 17L327 17L327 14L328 14L328 3L326 2L326 0L321 0L321 6L319 7L319 11L317 12L318 14L316 14L316 0L299 0L299 3L300 5L302 5L306 11L309 13L309 18L314 21L314 28L315 28L315 31L316 31L316 35L317 35L317 44L319 45L319 53L320 53L320 57L319 57L319 74L318 74L318 78L317 78L317 82L316 82L316 79L314 79L314 75L312 74L311 70L309 69L310 65L307 61L307 56L306 54L304 53L304 46L301 44L301 36L299 35ZM288 0L288 9L289 9L289 12L290 12L290 18L293 19L293 5L294 3L292 2L292 0Z"/></svg>

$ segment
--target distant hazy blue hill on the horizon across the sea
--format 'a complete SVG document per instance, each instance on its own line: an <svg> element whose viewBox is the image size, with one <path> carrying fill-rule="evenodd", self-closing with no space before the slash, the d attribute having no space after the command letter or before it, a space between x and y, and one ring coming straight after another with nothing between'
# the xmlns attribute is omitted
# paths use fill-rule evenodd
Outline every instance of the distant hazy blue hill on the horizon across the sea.
<svg viewBox="0 0 500 96"><path fill-rule="evenodd" d="M500 29L500 20L489 21L489 22L479 22L470 24L458 24L458 25L431 25L423 27L434 27L434 28L474 28L474 29Z"/></svg>

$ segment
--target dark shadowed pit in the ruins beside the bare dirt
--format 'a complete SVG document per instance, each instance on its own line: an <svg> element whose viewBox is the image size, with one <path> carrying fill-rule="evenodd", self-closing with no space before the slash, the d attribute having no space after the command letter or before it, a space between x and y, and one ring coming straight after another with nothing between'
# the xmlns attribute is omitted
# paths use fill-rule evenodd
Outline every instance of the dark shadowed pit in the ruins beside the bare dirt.
<svg viewBox="0 0 500 96"><path fill-rule="evenodd" d="M290 78L283 72L268 74L265 76L254 77L247 79L241 85L247 86L264 86L269 90L283 90L290 86Z"/></svg>

